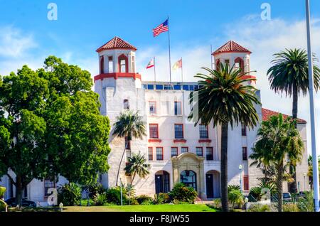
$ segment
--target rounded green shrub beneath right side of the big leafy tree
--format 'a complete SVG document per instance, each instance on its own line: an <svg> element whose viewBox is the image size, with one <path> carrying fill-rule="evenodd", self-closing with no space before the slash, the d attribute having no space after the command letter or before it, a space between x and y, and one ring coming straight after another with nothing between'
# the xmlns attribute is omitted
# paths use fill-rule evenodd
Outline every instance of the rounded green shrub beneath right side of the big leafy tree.
<svg viewBox="0 0 320 226"><path fill-rule="evenodd" d="M63 205L79 205L81 200L81 187L76 183L66 183L58 188L58 203Z"/></svg>

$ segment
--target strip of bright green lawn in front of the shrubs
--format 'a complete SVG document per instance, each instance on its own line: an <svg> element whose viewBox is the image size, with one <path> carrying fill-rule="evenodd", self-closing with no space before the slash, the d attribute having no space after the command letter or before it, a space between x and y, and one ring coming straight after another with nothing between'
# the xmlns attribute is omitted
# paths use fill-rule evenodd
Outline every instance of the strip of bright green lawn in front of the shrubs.
<svg viewBox="0 0 320 226"><path fill-rule="evenodd" d="M68 206L63 212L216 212L203 204L181 205L108 205L108 206Z"/></svg>

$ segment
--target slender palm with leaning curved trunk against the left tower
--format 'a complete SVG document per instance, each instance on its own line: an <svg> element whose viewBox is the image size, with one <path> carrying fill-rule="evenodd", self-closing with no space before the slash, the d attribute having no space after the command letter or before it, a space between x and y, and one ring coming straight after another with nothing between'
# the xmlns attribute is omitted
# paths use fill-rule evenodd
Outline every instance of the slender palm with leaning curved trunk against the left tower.
<svg viewBox="0 0 320 226"><path fill-rule="evenodd" d="M132 141L132 137L136 139L142 139L146 136L146 123L139 116L139 112L125 111L117 117L117 122L114 123L114 136L119 136L127 139L125 142L124 150L121 160L119 162L119 168L117 172L116 186L118 185L119 171L123 160L124 152L129 146L129 142Z"/></svg>

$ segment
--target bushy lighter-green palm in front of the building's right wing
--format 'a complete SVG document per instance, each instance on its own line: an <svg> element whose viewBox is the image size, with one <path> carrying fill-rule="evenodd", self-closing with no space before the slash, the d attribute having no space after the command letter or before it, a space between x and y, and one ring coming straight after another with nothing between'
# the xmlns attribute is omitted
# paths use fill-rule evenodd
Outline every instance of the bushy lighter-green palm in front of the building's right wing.
<svg viewBox="0 0 320 226"><path fill-rule="evenodd" d="M279 212L282 212L282 182L287 179L287 168L290 164L296 166L301 161L304 150L302 138L295 124L295 119L283 119L282 114L262 122L257 133L257 142L250 155L250 158L255 160L252 164L263 160L265 166L274 168Z"/></svg>

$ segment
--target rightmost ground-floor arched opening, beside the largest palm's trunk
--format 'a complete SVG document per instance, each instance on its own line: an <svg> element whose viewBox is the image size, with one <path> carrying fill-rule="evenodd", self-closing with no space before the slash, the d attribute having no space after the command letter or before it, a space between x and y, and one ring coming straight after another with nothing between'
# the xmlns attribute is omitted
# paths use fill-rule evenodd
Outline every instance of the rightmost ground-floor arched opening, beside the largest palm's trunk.
<svg viewBox="0 0 320 226"><path fill-rule="evenodd" d="M218 171L206 173L206 195L207 198L220 198L220 173Z"/></svg>

